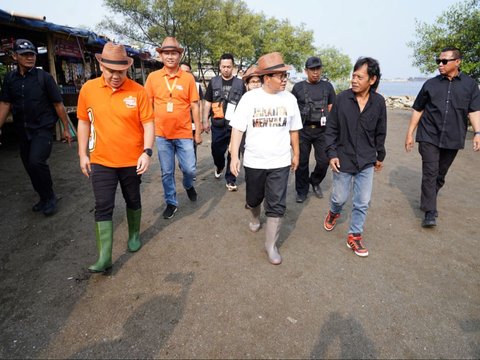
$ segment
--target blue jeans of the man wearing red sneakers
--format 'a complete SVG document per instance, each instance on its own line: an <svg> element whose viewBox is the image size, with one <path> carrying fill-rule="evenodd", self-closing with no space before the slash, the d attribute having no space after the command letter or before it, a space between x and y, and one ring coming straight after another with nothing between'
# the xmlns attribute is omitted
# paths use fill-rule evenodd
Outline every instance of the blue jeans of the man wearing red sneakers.
<svg viewBox="0 0 480 360"><path fill-rule="evenodd" d="M355 174L333 173L333 190L330 198L331 212L337 214L342 212L342 207L348 200L350 186L353 183L353 208L349 234L361 234L363 232L363 224L367 217L372 195L373 171L374 168L371 166Z"/></svg>

